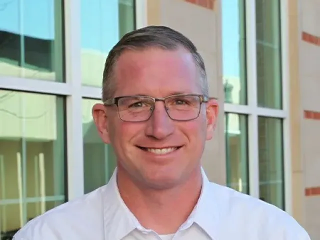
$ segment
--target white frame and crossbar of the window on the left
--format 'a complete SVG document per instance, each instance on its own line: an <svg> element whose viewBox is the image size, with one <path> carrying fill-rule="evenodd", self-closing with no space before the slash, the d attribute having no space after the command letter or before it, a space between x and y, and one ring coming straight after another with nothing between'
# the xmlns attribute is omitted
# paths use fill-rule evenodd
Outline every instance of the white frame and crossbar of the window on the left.
<svg viewBox="0 0 320 240"><path fill-rule="evenodd" d="M135 27L147 24L146 0L134 0ZM63 1L64 82L0 75L0 89L46 93L65 98L66 104L66 196L72 200L84 193L82 98L101 99L101 88L81 82L81 9L79 0ZM60 198L59 198L60 199ZM33 199L34 200L34 199Z"/></svg>

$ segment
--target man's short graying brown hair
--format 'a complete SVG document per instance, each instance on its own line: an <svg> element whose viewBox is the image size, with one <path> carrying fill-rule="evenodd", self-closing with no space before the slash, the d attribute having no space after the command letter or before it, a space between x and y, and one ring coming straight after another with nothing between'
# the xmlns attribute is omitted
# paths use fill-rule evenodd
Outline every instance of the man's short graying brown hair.
<svg viewBox="0 0 320 240"><path fill-rule="evenodd" d="M108 53L103 70L102 101L114 95L116 83L115 80L112 79L113 68L121 53L124 50L145 49L148 47L159 47L165 50L175 50L183 47L188 50L192 54L201 76L202 94L208 96L208 83L204 61L192 41L170 27L151 25L126 33Z"/></svg>

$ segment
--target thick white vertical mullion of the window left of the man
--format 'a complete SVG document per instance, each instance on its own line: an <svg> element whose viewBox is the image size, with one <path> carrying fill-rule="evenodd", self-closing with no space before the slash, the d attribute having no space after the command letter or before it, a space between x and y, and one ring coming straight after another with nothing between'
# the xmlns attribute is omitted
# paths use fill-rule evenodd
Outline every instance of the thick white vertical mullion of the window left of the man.
<svg viewBox="0 0 320 240"><path fill-rule="evenodd" d="M80 1L64 0L65 77L71 87L66 97L67 200L83 194L83 144L81 112Z"/></svg>

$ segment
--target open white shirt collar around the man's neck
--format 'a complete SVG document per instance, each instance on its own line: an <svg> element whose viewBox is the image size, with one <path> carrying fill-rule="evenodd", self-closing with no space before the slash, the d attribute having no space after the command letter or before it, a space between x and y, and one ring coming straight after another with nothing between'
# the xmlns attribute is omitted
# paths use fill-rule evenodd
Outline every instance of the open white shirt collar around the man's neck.
<svg viewBox="0 0 320 240"><path fill-rule="evenodd" d="M217 239L219 207L217 187L210 183L203 168L200 197L188 219L180 228L187 228L193 223L199 225L212 240ZM213 187L213 189L212 189ZM105 239L120 240L135 228L144 229L133 213L123 202L116 183L116 168L103 192L103 221ZM121 222L121 224L119 224Z"/></svg>

